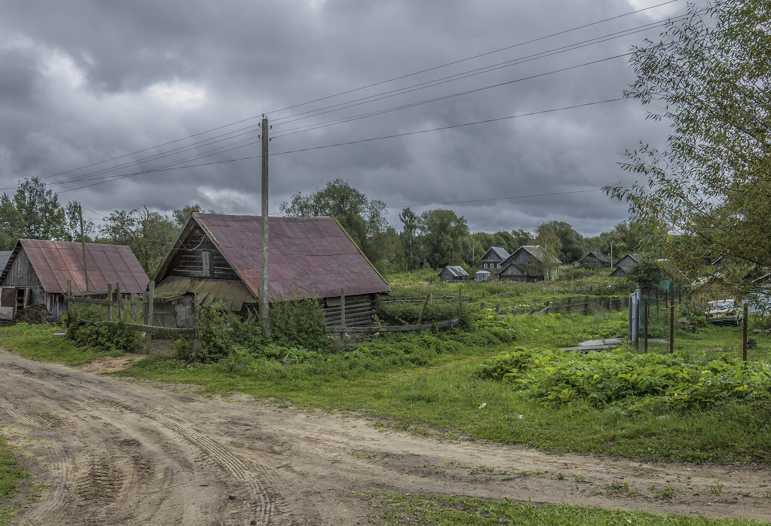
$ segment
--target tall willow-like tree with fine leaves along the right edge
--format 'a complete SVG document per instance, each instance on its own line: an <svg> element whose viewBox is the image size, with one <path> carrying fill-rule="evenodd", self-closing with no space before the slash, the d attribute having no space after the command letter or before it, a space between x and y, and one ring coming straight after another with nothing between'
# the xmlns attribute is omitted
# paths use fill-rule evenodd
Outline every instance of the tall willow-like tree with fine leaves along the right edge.
<svg viewBox="0 0 771 526"><path fill-rule="evenodd" d="M636 221L659 225L655 244L686 278L715 254L733 265L771 267L771 32L757 0L714 0L671 22L659 42L635 49L628 98L661 103L648 118L672 128L663 151L627 152L626 170L645 177L605 191ZM744 272L718 276L737 295Z"/></svg>

